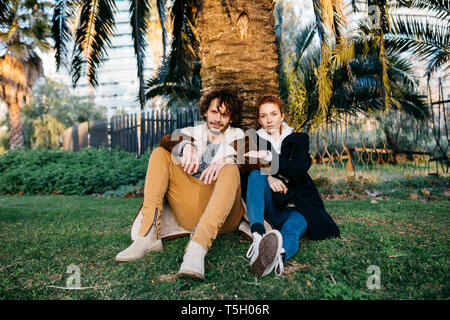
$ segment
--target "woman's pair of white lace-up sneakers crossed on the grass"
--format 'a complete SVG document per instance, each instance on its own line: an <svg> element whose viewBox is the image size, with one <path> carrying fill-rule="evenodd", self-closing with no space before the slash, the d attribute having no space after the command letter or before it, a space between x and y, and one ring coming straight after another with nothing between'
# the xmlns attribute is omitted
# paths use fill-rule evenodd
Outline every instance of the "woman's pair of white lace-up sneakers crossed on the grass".
<svg viewBox="0 0 450 320"><path fill-rule="evenodd" d="M264 277L275 269L275 274L281 275L284 270L283 259L281 257L281 253L283 253L282 246L283 237L278 230L267 232L259 240L257 252L255 249L253 250L250 271L258 276Z"/></svg>

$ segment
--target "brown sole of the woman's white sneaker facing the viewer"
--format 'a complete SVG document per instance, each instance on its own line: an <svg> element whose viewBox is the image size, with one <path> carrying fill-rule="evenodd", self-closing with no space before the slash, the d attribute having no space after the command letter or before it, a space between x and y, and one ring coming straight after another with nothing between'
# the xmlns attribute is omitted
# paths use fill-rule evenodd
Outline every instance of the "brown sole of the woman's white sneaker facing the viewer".
<svg viewBox="0 0 450 320"><path fill-rule="evenodd" d="M250 266L250 271L258 276L266 275L268 267L270 267L277 259L281 252L281 234L279 232L268 232L259 243L258 257Z"/></svg>

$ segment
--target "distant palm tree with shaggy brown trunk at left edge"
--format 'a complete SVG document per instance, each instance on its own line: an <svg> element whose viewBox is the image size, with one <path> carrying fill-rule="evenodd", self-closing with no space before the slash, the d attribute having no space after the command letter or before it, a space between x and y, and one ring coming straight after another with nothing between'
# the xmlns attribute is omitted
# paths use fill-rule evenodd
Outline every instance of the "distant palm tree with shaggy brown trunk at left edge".
<svg viewBox="0 0 450 320"><path fill-rule="evenodd" d="M49 5L13 0L2 8L0 98L8 107L11 150L23 148L21 106L27 103L34 81L42 74L42 61L34 50L50 48L46 41L50 29L45 13Z"/></svg>

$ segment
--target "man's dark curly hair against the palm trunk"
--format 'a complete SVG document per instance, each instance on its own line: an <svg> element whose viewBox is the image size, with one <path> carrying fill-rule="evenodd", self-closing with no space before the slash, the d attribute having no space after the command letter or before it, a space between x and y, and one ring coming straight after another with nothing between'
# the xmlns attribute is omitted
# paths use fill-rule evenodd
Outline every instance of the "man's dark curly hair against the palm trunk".
<svg viewBox="0 0 450 320"><path fill-rule="evenodd" d="M200 101L200 114L202 119L206 120L204 114L208 111L211 102L218 99L219 106L222 103L230 113L230 124L233 127L240 127L242 122L242 101L236 92L230 89L213 90L204 96Z"/></svg>

